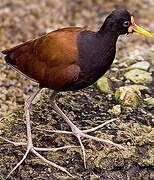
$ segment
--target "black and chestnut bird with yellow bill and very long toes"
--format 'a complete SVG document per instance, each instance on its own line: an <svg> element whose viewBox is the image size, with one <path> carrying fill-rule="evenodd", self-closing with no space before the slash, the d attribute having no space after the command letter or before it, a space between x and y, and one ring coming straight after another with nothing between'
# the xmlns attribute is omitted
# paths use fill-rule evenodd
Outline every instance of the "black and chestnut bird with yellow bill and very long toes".
<svg viewBox="0 0 154 180"><path fill-rule="evenodd" d="M25 155L8 176L26 159L29 152L34 153L48 165L56 167L71 176L64 167L47 160L37 152L52 151L53 149L33 146L30 107L33 99L42 88L51 90L50 102L53 109L66 121L71 129L71 131L57 130L56 132L77 137L83 152L85 167L86 153L81 140L82 137L125 149L124 146L110 140L88 135L89 132L96 131L113 120L95 128L80 130L58 107L55 97L58 92L76 91L95 83L108 71L113 63L118 37L133 32L152 37L151 33L135 24L134 17L126 9L115 9L106 17L102 26L96 32L82 27L65 27L2 51L8 65L39 84L36 92L27 99L24 106L27 143L16 143L1 137L10 143L27 146Z"/></svg>

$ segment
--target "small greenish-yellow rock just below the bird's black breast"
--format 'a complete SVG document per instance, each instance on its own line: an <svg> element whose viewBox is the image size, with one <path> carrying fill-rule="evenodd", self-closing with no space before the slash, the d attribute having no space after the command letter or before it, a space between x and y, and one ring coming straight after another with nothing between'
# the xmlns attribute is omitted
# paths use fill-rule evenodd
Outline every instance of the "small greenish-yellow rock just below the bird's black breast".
<svg viewBox="0 0 154 180"><path fill-rule="evenodd" d="M107 77L101 77L97 81L97 88L103 93L112 93L111 81Z"/></svg>

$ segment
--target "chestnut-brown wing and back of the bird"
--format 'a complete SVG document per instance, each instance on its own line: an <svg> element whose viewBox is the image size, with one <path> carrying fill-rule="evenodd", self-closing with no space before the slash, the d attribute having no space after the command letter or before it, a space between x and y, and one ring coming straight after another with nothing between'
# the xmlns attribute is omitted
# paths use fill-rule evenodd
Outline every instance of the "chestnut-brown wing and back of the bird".
<svg viewBox="0 0 154 180"><path fill-rule="evenodd" d="M63 28L4 50L8 61L28 77L51 89L77 79L77 36L83 28Z"/></svg>

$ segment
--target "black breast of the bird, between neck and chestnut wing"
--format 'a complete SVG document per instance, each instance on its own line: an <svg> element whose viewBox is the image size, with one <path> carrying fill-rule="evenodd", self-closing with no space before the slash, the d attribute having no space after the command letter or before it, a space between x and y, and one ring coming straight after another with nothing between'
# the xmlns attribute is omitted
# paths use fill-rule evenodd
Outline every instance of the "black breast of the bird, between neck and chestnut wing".
<svg viewBox="0 0 154 180"><path fill-rule="evenodd" d="M62 91L73 91L86 88L95 83L110 68L115 57L115 44L104 43L96 32L82 31L77 38L78 78L64 86Z"/></svg>

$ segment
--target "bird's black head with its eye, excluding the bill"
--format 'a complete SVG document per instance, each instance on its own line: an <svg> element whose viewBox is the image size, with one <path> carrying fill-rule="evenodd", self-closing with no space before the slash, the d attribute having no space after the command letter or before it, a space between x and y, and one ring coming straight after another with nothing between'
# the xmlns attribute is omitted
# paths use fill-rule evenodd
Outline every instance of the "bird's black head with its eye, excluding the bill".
<svg viewBox="0 0 154 180"><path fill-rule="evenodd" d="M117 9L105 19L99 32L111 32L115 35L128 33L131 25L131 15L125 9Z"/></svg>

